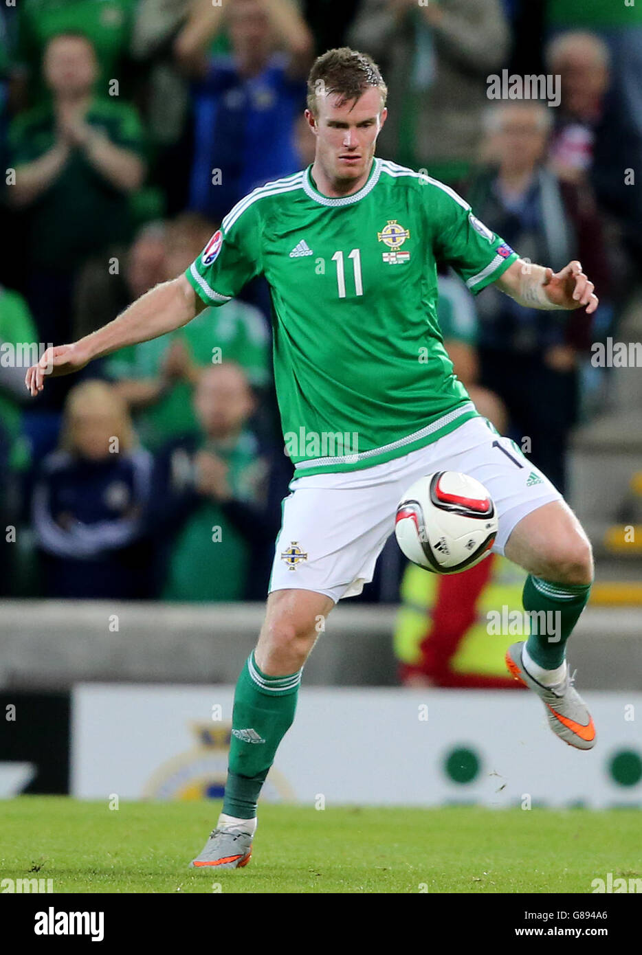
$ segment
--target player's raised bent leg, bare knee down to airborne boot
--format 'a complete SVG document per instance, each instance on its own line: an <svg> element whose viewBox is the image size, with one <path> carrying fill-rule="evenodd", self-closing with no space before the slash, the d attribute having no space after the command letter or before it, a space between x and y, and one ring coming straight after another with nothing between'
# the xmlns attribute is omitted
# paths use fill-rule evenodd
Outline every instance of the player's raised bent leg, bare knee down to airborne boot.
<svg viewBox="0 0 642 955"><path fill-rule="evenodd" d="M593 580L587 535L565 501L550 501L519 521L505 554L528 571L523 600L531 612L530 636L509 648L506 665L543 700L551 730L570 746L589 750L595 745L593 721L566 660L567 639Z"/></svg>

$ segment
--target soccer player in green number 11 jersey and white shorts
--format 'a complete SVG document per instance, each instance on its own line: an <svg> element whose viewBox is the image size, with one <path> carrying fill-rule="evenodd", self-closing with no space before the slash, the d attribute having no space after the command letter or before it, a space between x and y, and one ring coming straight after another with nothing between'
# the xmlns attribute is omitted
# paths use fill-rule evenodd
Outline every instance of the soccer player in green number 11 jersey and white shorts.
<svg viewBox="0 0 642 955"><path fill-rule="evenodd" d="M525 306L593 312L597 298L579 262L557 273L525 263L452 189L375 158L385 101L369 56L343 48L319 57L306 111L311 166L255 189L185 275L86 338L48 350L26 376L36 394L48 363L53 374L75 371L185 325L255 275L268 279L276 388L296 471L265 623L236 687L223 813L198 867L249 860L257 799L325 618L372 579L398 499L432 472L461 471L489 490L500 528L493 549L528 572L524 608L559 621L554 635L510 647L508 668L543 700L553 732L579 749L595 741L565 659L588 601L590 544L555 487L477 413L453 375L436 318L436 260L473 292L492 282Z"/></svg>

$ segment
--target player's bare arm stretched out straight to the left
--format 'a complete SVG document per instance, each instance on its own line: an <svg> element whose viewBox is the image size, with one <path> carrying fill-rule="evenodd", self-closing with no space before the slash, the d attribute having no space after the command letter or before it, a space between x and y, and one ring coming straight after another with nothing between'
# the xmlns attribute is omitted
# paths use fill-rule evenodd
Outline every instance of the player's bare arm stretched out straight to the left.
<svg viewBox="0 0 642 955"><path fill-rule="evenodd" d="M204 308L184 275L163 282L141 295L113 322L80 338L72 345L47 349L25 375L27 390L36 395L44 388L45 376L80 371L95 358L102 358L126 345L137 345L180 329Z"/></svg>

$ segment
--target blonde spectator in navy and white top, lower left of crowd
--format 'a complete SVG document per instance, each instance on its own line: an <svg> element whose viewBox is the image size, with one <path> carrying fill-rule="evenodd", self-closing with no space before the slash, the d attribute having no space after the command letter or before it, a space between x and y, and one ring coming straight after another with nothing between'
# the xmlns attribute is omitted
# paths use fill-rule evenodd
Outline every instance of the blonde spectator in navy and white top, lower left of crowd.
<svg viewBox="0 0 642 955"><path fill-rule="evenodd" d="M59 450L45 458L33 492L47 596L150 596L143 518L151 472L118 394L101 381L76 385Z"/></svg>

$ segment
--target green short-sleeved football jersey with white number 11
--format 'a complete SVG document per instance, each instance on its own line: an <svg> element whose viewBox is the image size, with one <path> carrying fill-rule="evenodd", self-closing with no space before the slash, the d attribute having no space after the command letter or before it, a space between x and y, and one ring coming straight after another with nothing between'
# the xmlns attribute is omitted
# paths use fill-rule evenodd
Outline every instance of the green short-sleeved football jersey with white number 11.
<svg viewBox="0 0 642 955"><path fill-rule="evenodd" d="M301 477L406 455L477 414L443 347L436 262L479 292L516 259L451 188L374 159L351 196L322 195L311 166L255 189L185 274L209 305L266 276Z"/></svg>

